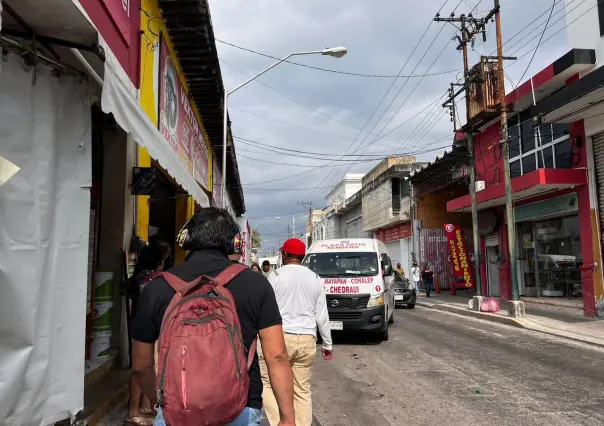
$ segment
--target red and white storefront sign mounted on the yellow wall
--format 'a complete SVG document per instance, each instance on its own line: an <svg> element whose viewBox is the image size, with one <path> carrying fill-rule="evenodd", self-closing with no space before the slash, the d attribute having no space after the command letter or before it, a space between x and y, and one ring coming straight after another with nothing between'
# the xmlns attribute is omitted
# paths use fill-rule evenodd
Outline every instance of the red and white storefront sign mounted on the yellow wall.
<svg viewBox="0 0 604 426"><path fill-rule="evenodd" d="M208 146L164 37L159 57L159 130L195 180L208 188Z"/></svg>

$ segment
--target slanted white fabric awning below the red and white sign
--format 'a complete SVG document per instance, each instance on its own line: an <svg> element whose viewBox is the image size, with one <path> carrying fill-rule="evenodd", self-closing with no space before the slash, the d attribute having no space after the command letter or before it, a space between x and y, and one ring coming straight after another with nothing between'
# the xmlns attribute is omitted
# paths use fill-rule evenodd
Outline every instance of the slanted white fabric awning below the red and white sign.
<svg viewBox="0 0 604 426"><path fill-rule="evenodd" d="M162 134L145 114L138 101L113 69L112 61L105 62L105 75L101 107L106 114L113 114L115 121L135 142L144 146L182 188L202 207L208 207L210 200L199 184L193 179L187 167L180 161Z"/></svg>

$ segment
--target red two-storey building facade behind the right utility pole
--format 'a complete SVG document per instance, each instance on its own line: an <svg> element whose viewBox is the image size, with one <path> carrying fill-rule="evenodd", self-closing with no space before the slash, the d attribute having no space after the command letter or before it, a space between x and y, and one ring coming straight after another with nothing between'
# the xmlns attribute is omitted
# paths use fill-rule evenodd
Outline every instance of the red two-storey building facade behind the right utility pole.
<svg viewBox="0 0 604 426"><path fill-rule="evenodd" d="M572 85L594 63L593 50L573 49L507 96L516 259L508 256L500 122L488 123L475 135L483 294L511 299L510 262L515 261L522 298L564 301L596 316L599 230L590 201L592 153L583 121L543 123L537 114L541 101ZM447 203L450 212L470 207L469 195Z"/></svg>

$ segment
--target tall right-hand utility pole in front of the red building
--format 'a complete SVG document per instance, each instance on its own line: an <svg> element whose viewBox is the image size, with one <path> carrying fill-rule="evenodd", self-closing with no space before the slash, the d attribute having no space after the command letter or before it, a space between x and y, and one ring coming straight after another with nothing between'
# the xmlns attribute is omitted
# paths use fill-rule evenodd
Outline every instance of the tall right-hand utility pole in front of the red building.
<svg viewBox="0 0 604 426"><path fill-rule="evenodd" d="M505 74L503 71L503 40L501 36L501 14L499 0L495 3L495 27L497 31L497 64L499 66L499 108L501 112L501 142L503 143L503 177L505 184L505 211L508 226L508 259L512 275L512 302L509 313L513 317L524 316L524 304L520 302L518 291L518 274L516 265L516 219L512 198L512 179L510 176L510 139L508 137L507 105L505 101Z"/></svg>

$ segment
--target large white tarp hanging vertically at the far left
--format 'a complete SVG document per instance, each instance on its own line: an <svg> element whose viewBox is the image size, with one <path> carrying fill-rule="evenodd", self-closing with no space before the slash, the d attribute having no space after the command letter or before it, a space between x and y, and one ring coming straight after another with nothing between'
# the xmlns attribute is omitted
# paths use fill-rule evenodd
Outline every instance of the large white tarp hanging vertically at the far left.
<svg viewBox="0 0 604 426"><path fill-rule="evenodd" d="M84 405L91 137L88 83L0 68L0 423Z"/></svg>

